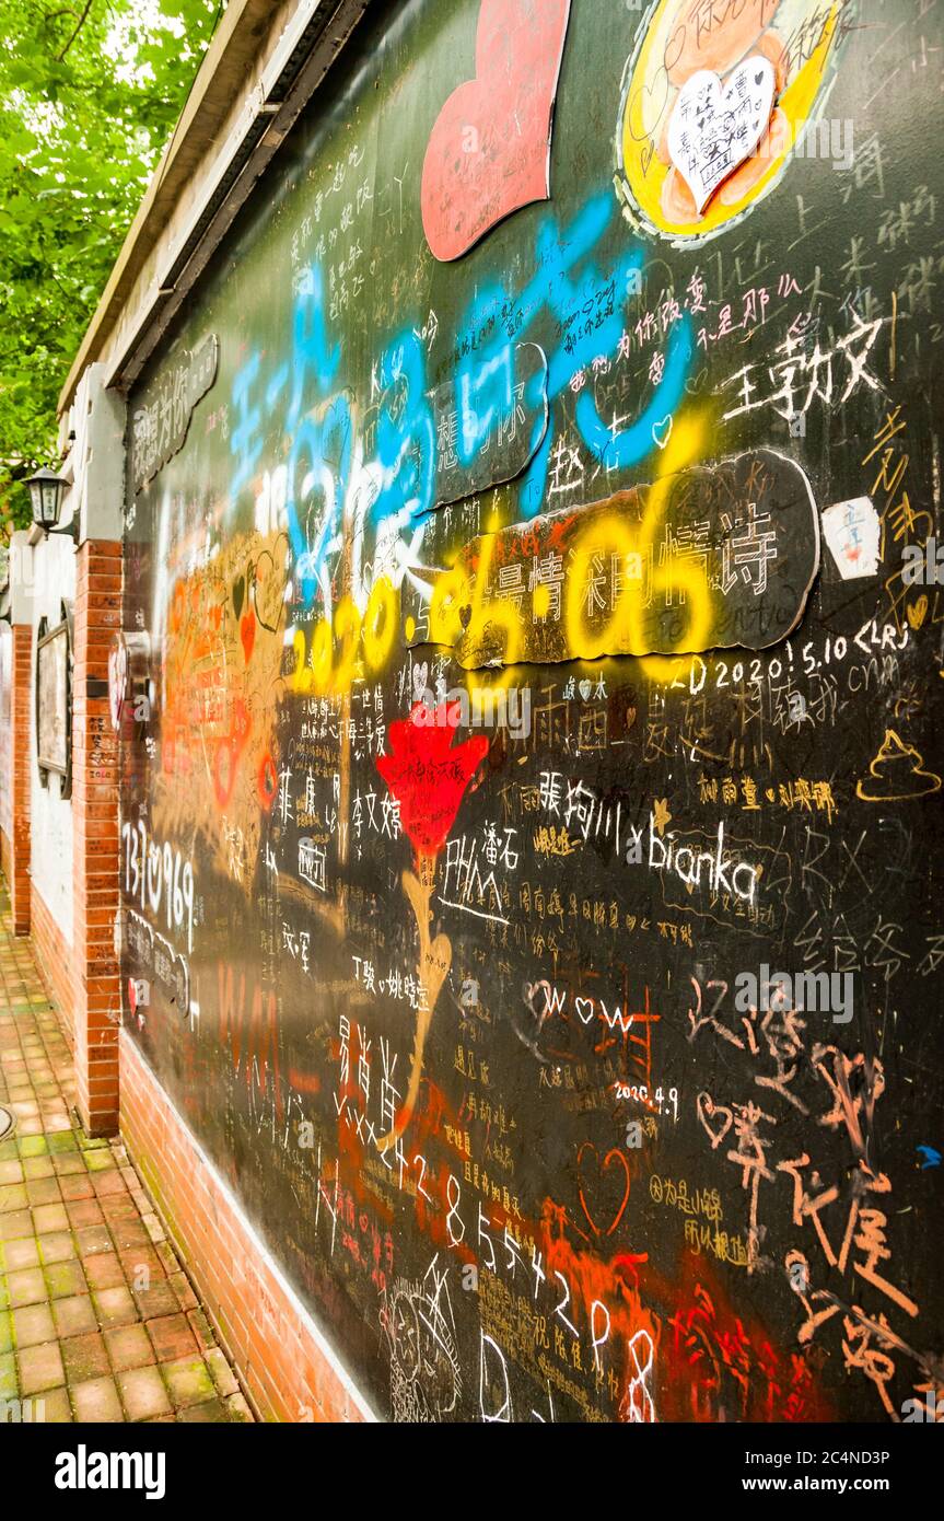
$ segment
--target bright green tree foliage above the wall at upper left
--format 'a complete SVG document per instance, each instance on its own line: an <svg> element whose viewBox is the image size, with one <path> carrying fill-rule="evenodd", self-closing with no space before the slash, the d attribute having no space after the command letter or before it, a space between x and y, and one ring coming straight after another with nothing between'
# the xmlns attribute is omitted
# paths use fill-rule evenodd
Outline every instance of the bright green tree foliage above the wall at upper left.
<svg viewBox="0 0 944 1521"><path fill-rule="evenodd" d="M225 0L0 0L0 540Z"/></svg>

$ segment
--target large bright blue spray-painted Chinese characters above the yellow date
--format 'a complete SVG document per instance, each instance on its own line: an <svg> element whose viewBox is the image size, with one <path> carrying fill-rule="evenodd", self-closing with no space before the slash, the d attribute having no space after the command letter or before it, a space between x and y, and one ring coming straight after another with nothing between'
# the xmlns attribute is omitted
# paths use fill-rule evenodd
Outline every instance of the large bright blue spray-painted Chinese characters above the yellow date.
<svg viewBox="0 0 944 1521"><path fill-rule="evenodd" d="M496 420L506 417L515 395L515 351L544 313L556 330L547 374L532 374L524 402L534 415L532 461L521 478L524 517L546 505L547 472L555 443L553 409L544 426L544 385L553 403L573 376L616 353L623 336L623 304L638 289L641 249L625 249L607 274L590 256L610 227L616 202L611 192L594 196L564 228L543 221L535 240L535 274L515 297L497 283L471 303L464 330L471 333L456 348L455 395L459 417L456 452L468 467L486 446ZM678 408L693 356L692 321L673 327L664 367L649 402L637 417L605 423L590 389L579 394L575 423L584 447L607 470L629 470L655 446L654 429ZM295 575L303 601L312 605L318 589L330 601L328 561L341 551L342 513L353 476L356 423L353 399L339 389L342 354L325 325L324 281L318 265L307 272L292 313L292 359L269 379L265 399L269 415L289 389L284 417L287 446L287 528ZM236 468L231 505L251 484L261 455L261 414L252 392L260 379L260 356L252 354L233 383L236 427L231 452ZM436 427L430 406L426 351L420 335L404 329L372 371L380 391L375 458L379 482L369 510L374 532L409 534L435 505ZM538 447L540 446L540 447Z"/></svg>

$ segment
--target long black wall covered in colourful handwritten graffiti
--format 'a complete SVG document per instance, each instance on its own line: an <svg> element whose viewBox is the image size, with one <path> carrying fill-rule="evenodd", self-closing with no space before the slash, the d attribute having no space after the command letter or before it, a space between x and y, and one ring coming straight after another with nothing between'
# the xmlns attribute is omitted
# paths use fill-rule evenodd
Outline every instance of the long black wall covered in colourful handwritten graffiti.
<svg viewBox="0 0 944 1521"><path fill-rule="evenodd" d="M391 6L131 397L125 1021L385 1418L944 1381L942 46Z"/></svg>

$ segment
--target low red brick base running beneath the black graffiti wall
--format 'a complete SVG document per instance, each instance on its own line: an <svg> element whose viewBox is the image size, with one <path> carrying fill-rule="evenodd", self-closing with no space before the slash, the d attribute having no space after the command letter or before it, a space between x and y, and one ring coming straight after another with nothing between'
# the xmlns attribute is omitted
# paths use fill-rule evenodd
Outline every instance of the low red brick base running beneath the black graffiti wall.
<svg viewBox="0 0 944 1521"><path fill-rule="evenodd" d="M122 1135L261 1416L369 1419L129 1036L120 1049Z"/></svg>

